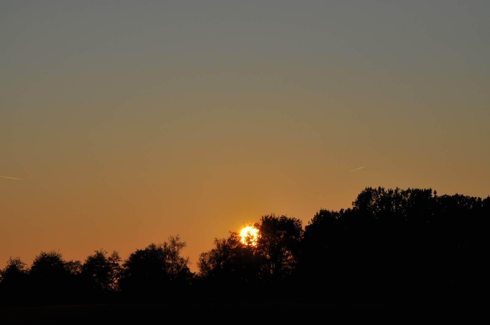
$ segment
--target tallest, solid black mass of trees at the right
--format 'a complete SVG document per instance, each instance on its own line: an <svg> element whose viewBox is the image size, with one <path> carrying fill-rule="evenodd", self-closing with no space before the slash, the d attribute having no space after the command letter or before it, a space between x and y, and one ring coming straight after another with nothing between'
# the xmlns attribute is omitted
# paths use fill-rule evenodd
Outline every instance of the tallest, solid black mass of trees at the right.
<svg viewBox="0 0 490 325"><path fill-rule="evenodd" d="M367 187L340 211L306 226L299 272L309 295L455 297L488 287L490 198L437 196L431 189Z"/></svg>

